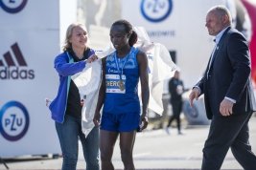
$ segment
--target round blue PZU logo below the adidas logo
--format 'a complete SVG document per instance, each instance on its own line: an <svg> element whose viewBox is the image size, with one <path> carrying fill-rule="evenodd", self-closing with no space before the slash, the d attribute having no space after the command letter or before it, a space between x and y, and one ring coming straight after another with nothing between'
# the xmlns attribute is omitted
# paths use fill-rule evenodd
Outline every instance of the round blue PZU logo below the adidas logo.
<svg viewBox="0 0 256 170"><path fill-rule="evenodd" d="M29 113L25 106L18 101L6 103L0 110L0 133L10 141L24 137L29 124Z"/></svg>

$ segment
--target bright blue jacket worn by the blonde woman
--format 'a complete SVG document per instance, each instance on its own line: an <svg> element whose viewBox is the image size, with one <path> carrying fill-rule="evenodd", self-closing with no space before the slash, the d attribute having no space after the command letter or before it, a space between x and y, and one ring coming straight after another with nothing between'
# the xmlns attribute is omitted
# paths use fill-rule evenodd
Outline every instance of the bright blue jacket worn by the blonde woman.
<svg viewBox="0 0 256 170"><path fill-rule="evenodd" d="M94 51L91 50L88 56L93 53ZM64 122L71 75L81 72L85 68L85 64L85 61L74 62L68 52L60 53L55 58L55 69L59 76L58 95L49 108L52 112L52 118L58 123Z"/></svg>

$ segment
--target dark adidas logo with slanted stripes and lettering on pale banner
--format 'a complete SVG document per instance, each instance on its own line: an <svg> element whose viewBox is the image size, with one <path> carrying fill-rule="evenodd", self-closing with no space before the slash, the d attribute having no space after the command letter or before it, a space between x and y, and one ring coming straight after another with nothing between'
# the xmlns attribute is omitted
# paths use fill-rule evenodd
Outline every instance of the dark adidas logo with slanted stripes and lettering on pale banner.
<svg viewBox="0 0 256 170"><path fill-rule="evenodd" d="M3 59L6 62L6 66L3 60L0 59L0 79L34 79L34 70L20 69L21 67L28 67L28 65L18 47L18 44L13 44L11 48L18 65L15 64L10 52L4 53ZM4 69L2 69L2 67L4 67Z"/></svg>

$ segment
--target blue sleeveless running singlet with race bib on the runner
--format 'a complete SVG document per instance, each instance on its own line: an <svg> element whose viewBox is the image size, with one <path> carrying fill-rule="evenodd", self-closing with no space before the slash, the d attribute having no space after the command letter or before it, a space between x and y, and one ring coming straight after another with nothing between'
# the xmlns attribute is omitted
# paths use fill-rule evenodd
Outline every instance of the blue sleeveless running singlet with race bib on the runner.
<svg viewBox="0 0 256 170"><path fill-rule="evenodd" d="M136 60L138 52L138 49L132 47L128 55L123 58L116 57L116 52L106 56L104 113L140 113L138 96L139 68ZM119 88L120 74L118 74L115 57L117 58L119 70L123 68L122 81L125 83L124 90Z"/></svg>

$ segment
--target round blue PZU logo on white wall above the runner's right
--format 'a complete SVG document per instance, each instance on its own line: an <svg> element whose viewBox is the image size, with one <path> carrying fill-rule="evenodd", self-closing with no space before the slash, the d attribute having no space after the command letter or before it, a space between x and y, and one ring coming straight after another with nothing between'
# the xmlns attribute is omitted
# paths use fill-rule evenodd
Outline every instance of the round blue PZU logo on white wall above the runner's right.
<svg viewBox="0 0 256 170"><path fill-rule="evenodd" d="M142 0L141 12L151 22L165 20L173 9L172 0Z"/></svg>

